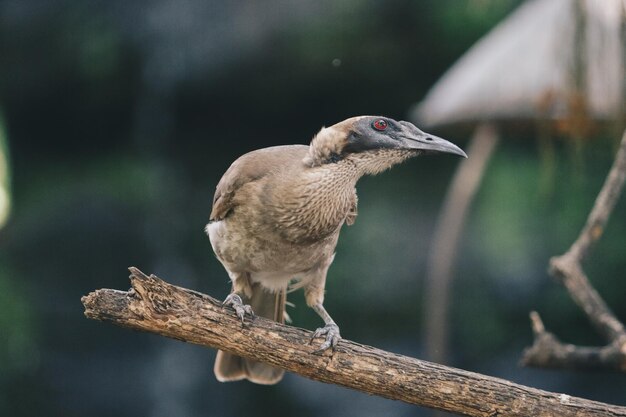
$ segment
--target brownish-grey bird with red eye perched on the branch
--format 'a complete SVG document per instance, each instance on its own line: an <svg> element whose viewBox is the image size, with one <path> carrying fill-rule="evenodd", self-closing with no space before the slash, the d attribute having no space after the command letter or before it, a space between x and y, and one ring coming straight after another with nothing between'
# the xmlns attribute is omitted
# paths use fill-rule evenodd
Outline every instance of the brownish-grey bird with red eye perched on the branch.
<svg viewBox="0 0 626 417"><path fill-rule="evenodd" d="M334 349L341 333L324 307L324 287L339 232L357 217L356 184L409 158L467 157L453 143L412 123L351 117L323 127L309 145L258 149L239 157L219 181L205 231L232 282L225 306L244 323L255 315L283 323L288 291L302 288L324 321L311 341ZM275 384L282 369L218 351L218 381Z"/></svg>

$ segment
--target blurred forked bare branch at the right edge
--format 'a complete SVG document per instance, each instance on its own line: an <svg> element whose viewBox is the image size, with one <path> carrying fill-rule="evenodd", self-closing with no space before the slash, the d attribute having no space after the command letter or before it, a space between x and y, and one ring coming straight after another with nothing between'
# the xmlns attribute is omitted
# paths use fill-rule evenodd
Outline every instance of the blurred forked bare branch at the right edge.
<svg viewBox="0 0 626 417"><path fill-rule="evenodd" d="M605 368L626 372L626 331L593 288L581 262L602 236L626 178L626 131L613 167L596 198L580 235L565 254L550 260L550 274L567 288L596 330L608 342L605 347L566 345L547 332L539 314L531 313L535 342L522 356L522 364L558 368Z"/></svg>

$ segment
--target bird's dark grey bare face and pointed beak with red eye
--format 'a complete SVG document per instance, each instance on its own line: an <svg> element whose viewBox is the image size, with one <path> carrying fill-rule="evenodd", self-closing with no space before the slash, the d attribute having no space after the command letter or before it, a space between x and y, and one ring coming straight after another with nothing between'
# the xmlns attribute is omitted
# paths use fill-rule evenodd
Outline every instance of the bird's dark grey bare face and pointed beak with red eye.
<svg viewBox="0 0 626 417"><path fill-rule="evenodd" d="M409 122L398 122L381 116L359 119L348 135L343 153L358 153L375 149L451 153L467 158L465 152L458 146L445 139L422 132Z"/></svg>

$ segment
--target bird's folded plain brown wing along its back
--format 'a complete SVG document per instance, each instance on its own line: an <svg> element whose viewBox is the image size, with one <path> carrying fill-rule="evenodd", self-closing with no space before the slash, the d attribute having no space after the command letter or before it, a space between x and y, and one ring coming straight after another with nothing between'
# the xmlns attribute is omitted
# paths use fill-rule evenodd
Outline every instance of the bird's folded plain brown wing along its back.
<svg viewBox="0 0 626 417"><path fill-rule="evenodd" d="M217 184L210 221L228 216L235 207L234 196L243 185L258 181L286 165L302 163L308 151L307 145L273 146L239 157Z"/></svg>

